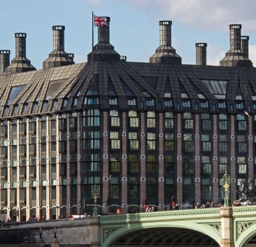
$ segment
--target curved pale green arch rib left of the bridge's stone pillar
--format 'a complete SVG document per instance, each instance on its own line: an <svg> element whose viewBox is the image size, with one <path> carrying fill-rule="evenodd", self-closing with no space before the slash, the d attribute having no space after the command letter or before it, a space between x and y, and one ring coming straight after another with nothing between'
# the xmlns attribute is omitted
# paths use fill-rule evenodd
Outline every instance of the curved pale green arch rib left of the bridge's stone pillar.
<svg viewBox="0 0 256 247"><path fill-rule="evenodd" d="M102 246L109 247L111 244L115 243L118 239L128 236L132 232L141 231L141 230L150 230L156 228L176 228L176 229L186 229L191 230L193 232L198 232L200 234L204 234L205 236L208 236L209 238L213 239L216 244L220 245L221 242L221 236L218 234L214 228L210 227L207 224L200 224L195 222L189 222L189 221L182 221L178 222L156 222L154 224L152 223L136 223L136 224L128 224L125 225L122 228L118 228L114 232L112 232L104 241L104 244Z"/></svg>

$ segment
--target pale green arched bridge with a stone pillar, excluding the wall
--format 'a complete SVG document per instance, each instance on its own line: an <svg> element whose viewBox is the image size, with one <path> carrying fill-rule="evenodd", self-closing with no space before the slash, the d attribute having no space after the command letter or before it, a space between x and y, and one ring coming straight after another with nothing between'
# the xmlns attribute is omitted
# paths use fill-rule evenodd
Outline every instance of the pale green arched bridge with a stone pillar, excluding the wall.
<svg viewBox="0 0 256 247"><path fill-rule="evenodd" d="M100 246L256 246L256 206L100 217Z"/></svg>

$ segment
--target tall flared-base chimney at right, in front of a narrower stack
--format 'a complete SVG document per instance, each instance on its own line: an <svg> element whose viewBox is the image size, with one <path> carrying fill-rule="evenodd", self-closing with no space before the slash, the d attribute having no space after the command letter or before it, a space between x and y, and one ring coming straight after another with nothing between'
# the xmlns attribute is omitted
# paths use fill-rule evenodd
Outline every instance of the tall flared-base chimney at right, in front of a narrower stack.
<svg viewBox="0 0 256 247"><path fill-rule="evenodd" d="M220 61L220 66L250 67L252 61L241 50L241 24L230 24L230 49Z"/></svg>

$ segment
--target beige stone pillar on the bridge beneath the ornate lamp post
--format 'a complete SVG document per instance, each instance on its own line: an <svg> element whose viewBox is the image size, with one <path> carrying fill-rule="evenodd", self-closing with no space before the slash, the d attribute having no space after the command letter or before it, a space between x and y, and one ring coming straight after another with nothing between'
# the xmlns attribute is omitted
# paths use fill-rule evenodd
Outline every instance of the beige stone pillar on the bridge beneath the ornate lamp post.
<svg viewBox="0 0 256 247"><path fill-rule="evenodd" d="M232 207L221 207L221 243L220 247L234 247Z"/></svg>

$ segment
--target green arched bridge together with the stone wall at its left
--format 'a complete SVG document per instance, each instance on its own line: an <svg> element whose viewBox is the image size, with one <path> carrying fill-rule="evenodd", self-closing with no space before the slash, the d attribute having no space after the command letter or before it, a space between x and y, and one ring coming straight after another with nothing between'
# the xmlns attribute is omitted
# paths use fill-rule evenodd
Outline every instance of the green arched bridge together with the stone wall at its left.
<svg viewBox="0 0 256 247"><path fill-rule="evenodd" d="M256 206L2 223L0 246L256 246Z"/></svg>

